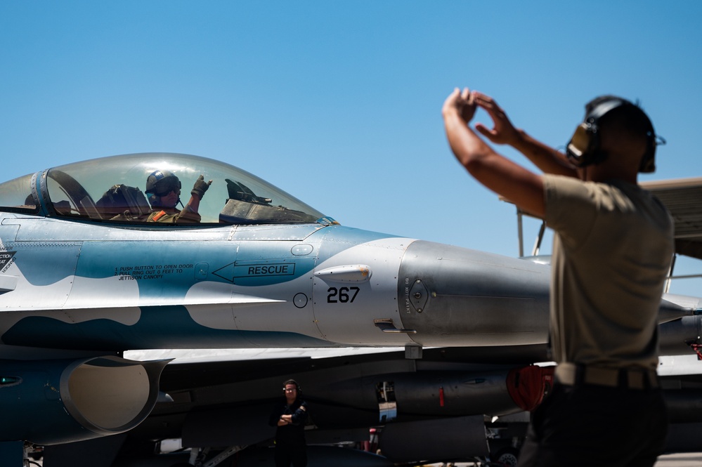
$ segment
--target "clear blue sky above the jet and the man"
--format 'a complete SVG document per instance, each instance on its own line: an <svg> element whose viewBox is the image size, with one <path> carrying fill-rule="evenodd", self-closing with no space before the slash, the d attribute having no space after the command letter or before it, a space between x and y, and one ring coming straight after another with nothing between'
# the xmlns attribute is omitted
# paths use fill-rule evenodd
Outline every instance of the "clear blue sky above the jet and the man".
<svg viewBox="0 0 702 467"><path fill-rule="evenodd" d="M700 18L692 0L3 0L1 178L198 154L344 225L516 256L514 208L448 150L448 93L488 93L556 147L594 96L639 100L668 140L642 180L700 176Z"/></svg>

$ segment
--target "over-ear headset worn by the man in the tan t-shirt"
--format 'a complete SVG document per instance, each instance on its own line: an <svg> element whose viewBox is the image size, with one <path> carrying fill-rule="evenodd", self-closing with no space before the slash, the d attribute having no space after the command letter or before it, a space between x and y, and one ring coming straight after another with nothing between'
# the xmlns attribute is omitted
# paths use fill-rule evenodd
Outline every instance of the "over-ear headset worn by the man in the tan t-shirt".
<svg viewBox="0 0 702 467"><path fill-rule="evenodd" d="M573 164L578 167L585 167L599 164L607 158L607 153L600 148L599 122L609 112L625 106L632 106L640 112L644 122L646 152L644 152L644 156L641 159L639 172L651 173L656 171L656 145L665 144L665 140L660 137L656 138L654 126L643 110L626 99L616 97L606 98L595 105L585 115L583 123L576 128L566 147L566 154L568 154L568 158L571 159Z"/></svg>

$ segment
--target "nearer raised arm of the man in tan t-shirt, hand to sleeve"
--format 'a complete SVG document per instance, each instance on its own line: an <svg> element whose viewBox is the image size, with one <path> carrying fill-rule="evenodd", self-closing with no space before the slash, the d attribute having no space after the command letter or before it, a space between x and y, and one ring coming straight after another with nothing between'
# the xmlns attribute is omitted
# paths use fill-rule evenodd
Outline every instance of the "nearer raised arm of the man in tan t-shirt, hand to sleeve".
<svg viewBox="0 0 702 467"><path fill-rule="evenodd" d="M543 180L495 152L467 126L475 114L475 96L458 88L443 104L448 144L456 159L486 188L534 216L544 216Z"/></svg>

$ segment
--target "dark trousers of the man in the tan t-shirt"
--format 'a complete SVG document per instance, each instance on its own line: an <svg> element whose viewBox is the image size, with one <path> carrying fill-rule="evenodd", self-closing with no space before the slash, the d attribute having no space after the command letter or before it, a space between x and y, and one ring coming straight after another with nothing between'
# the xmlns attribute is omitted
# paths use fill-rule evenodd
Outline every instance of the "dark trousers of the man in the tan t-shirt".
<svg viewBox="0 0 702 467"><path fill-rule="evenodd" d="M556 384L531 416L519 467L647 467L665 448L660 389Z"/></svg>

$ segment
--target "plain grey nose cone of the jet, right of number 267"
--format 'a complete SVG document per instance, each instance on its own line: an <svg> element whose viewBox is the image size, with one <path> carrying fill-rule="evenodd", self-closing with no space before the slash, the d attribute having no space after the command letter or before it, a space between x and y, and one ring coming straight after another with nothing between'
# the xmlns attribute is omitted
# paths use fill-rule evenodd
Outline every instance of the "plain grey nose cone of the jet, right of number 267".
<svg viewBox="0 0 702 467"><path fill-rule="evenodd" d="M402 327L422 346L545 343L550 268L417 241L400 265Z"/></svg>

